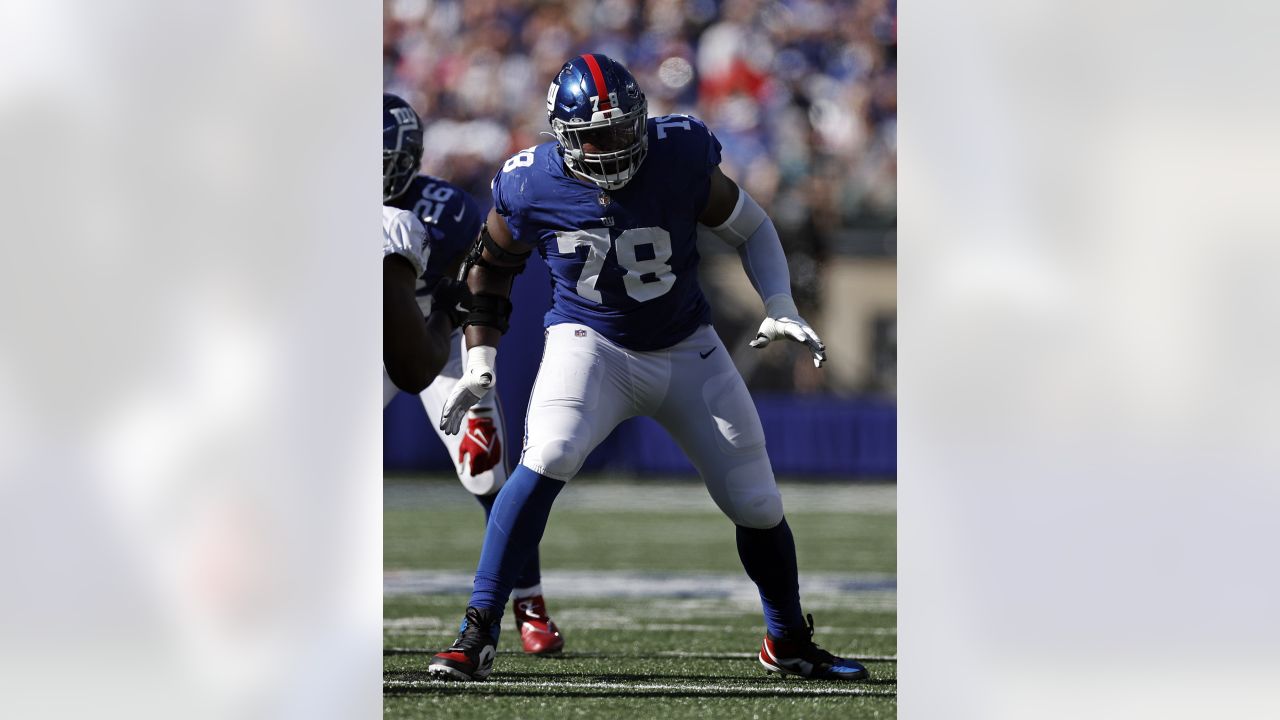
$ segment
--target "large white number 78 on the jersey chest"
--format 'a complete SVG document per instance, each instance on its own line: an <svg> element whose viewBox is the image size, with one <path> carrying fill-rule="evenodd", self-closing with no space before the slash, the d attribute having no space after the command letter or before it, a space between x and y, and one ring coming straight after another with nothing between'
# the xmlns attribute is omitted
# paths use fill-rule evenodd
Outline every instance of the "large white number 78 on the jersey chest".
<svg viewBox="0 0 1280 720"><path fill-rule="evenodd" d="M582 274L577 277L577 293L591 302L604 299L595 283L604 269L604 259L611 245L617 250L618 265L626 270L622 286L627 296L636 302L646 302L667 295L676 282L671 272L671 233L662 228L632 228L623 231L617 241L611 241L608 228L588 228L582 231L556 233L556 249L568 255L581 246L589 247ZM640 259L640 249L652 247L653 258ZM649 252L645 252L648 255Z"/></svg>

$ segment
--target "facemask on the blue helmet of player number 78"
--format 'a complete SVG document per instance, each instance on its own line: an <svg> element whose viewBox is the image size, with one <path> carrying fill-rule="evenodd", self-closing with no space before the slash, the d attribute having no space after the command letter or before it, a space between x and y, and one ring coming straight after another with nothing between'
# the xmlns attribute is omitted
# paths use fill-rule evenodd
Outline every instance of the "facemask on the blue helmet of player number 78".
<svg viewBox="0 0 1280 720"><path fill-rule="evenodd" d="M649 108L641 99L630 113L618 108L600 110L590 122L552 118L552 132L571 170L599 187L618 190L635 177L649 152L648 118ZM588 152L585 145L596 151Z"/></svg>

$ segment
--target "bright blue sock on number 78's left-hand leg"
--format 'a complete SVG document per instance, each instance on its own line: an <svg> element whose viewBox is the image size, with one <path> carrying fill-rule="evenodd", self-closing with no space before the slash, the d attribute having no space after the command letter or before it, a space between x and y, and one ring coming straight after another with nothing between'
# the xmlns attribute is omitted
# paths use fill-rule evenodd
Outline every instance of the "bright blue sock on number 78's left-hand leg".
<svg viewBox="0 0 1280 720"><path fill-rule="evenodd" d="M502 615L516 578L543 539L552 502L563 487L524 465L511 474L489 512L470 606Z"/></svg>

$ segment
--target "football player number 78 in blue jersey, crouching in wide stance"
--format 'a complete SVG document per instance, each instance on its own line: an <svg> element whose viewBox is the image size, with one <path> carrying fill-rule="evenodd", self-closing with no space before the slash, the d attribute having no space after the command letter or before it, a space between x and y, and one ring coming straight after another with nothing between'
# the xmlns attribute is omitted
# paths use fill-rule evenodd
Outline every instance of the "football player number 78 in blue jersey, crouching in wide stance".
<svg viewBox="0 0 1280 720"><path fill-rule="evenodd" d="M600 55L566 63L547 94L554 142L513 155L493 179L483 255L468 275L467 368L440 418L448 433L495 382L512 277L530 252L547 260L552 307L520 465L489 520L474 592L440 678L484 680L512 583L552 502L622 420L660 423L735 523L746 574L760 591L759 661L773 673L861 680L867 670L813 642L800 609L795 542L764 450L764 430L698 286L698 225L737 249L764 301L753 347L805 345L826 360L796 311L787 260L764 210L719 169L721 145L690 115L649 118L631 73Z"/></svg>

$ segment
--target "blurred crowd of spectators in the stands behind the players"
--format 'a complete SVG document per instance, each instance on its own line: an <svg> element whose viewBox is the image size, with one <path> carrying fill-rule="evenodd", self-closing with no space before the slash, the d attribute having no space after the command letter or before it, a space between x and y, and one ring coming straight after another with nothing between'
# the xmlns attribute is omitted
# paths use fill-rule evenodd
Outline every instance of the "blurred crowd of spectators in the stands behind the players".
<svg viewBox="0 0 1280 720"><path fill-rule="evenodd" d="M893 254L896 22L895 0L384 0L384 85L428 123L424 169L488 205L502 161L549 140L564 60L622 61L650 117L714 131L805 311L827 258Z"/></svg>

